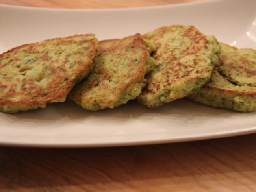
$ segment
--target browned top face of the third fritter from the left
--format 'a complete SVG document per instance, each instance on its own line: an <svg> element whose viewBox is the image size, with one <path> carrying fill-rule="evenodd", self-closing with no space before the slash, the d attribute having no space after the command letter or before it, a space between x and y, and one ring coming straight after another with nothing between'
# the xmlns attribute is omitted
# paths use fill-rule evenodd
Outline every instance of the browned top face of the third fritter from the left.
<svg viewBox="0 0 256 192"><path fill-rule="evenodd" d="M166 40L163 44L160 43L162 39L165 38L164 35L166 33L176 33L176 31L179 31L179 36L176 37L178 41L181 41L181 38L189 39L189 46L187 44L174 47L170 46L170 44L174 44L174 42L177 41L176 39L170 42ZM198 69L198 66L200 66L198 63L205 62L205 58L203 60L196 58L197 60L195 60L194 63L189 64L180 61L183 57L188 55L193 57L199 54L199 51L208 48L209 41L206 35L198 31L194 26L164 26L153 32L146 33L144 36L156 44L158 48L154 53L154 59L156 59L158 63L167 64L161 68L161 72L156 72L157 76L150 76L142 95L154 94L160 90L160 87L165 90L170 90L170 86L174 86L176 83L180 83L180 81L189 81L192 77L193 79L202 78L201 74L207 74L208 68ZM181 53L182 55L178 56L177 53ZM190 70L184 71L184 69L187 68ZM160 73L161 75L159 75Z"/></svg>

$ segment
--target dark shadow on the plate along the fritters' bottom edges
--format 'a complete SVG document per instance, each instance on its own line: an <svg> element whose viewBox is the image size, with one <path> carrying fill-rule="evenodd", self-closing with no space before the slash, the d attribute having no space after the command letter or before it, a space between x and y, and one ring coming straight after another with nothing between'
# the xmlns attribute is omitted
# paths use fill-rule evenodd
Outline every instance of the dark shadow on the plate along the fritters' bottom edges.
<svg viewBox="0 0 256 192"><path fill-rule="evenodd" d="M254 113L254 112L252 112ZM226 109L217 109L199 103L192 102L187 99L176 100L171 103L166 103L157 108L147 109L135 101L129 101L126 105L121 105L114 109L104 109L97 112L87 111L72 102L67 100L64 103L52 103L45 109L37 109L33 111L24 111L17 114L4 114L6 118L15 119L34 119L57 121L61 118L69 120L84 120L85 118L101 118L113 120L129 120L133 118L143 118L150 120L152 117L172 116L172 118L193 119L197 117L213 118L213 117L230 117L233 115L243 115Z"/></svg>

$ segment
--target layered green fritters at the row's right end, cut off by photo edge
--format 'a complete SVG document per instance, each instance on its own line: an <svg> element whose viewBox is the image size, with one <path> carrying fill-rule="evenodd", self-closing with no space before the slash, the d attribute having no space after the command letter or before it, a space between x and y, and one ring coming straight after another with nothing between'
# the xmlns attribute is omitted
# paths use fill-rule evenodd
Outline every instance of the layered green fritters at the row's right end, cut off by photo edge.
<svg viewBox="0 0 256 192"><path fill-rule="evenodd" d="M221 44L220 64L210 81L188 98L234 111L256 110L256 50Z"/></svg>

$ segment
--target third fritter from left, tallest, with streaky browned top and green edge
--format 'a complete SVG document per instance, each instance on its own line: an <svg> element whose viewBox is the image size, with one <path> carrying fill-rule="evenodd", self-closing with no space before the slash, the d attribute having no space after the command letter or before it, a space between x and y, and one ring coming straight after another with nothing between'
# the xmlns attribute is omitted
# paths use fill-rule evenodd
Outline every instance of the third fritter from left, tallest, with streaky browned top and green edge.
<svg viewBox="0 0 256 192"><path fill-rule="evenodd" d="M146 76L139 103L157 107L200 89L219 61L219 43L194 26L161 27L144 35L157 46L159 64Z"/></svg>

